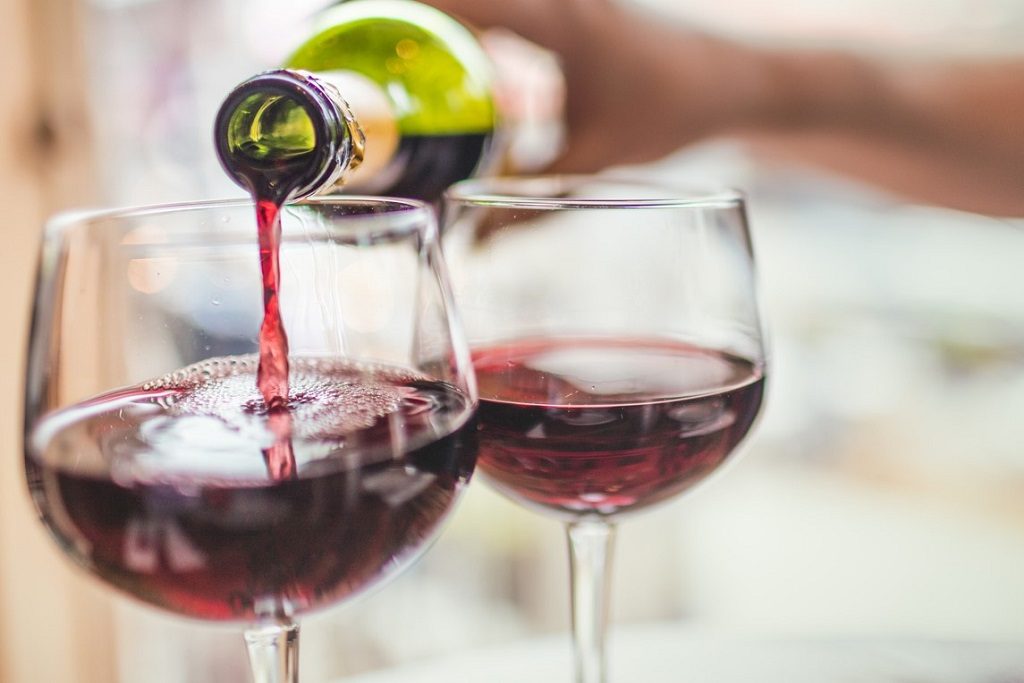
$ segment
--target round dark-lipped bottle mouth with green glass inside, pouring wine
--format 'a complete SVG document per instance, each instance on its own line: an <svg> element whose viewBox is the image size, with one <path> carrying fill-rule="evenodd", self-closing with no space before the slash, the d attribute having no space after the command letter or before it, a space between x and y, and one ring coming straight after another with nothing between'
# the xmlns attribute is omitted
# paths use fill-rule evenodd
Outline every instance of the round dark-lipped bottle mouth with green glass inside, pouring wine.
<svg viewBox="0 0 1024 683"><path fill-rule="evenodd" d="M287 69L254 76L228 93L217 112L214 143L236 183L278 202L327 185L352 152L335 99L315 78Z"/></svg>

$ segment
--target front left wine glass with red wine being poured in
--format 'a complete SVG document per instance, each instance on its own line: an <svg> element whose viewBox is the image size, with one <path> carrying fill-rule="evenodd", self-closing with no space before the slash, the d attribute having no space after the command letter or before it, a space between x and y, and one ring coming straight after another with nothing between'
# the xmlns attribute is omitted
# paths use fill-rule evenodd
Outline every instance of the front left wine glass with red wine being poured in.
<svg viewBox="0 0 1024 683"><path fill-rule="evenodd" d="M26 388L28 484L60 548L150 605L245 624L257 683L298 680L295 620L408 566L476 459L432 211L333 198L282 222L287 410L256 387L243 201L52 222Z"/></svg>

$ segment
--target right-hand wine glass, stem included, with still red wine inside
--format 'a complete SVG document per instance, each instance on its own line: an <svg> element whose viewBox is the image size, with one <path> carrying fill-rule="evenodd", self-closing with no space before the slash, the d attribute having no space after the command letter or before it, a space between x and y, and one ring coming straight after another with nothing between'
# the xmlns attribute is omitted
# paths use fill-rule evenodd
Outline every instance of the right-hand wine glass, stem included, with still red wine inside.
<svg viewBox="0 0 1024 683"><path fill-rule="evenodd" d="M577 681L605 681L615 523L748 433L765 351L743 199L602 177L469 180L442 234L479 471L567 524Z"/></svg>

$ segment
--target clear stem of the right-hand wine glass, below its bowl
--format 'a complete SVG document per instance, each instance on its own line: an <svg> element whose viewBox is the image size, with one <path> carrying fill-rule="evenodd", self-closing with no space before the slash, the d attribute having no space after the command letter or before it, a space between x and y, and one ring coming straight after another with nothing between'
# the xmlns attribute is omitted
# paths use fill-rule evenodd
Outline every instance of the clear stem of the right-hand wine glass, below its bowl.
<svg viewBox="0 0 1024 683"><path fill-rule="evenodd" d="M615 527L600 519L571 522L572 648L577 683L605 683L604 634Z"/></svg>

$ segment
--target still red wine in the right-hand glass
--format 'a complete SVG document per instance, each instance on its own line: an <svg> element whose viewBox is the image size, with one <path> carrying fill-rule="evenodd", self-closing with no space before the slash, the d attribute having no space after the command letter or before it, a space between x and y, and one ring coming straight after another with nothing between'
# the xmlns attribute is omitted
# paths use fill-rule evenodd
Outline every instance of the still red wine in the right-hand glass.
<svg viewBox="0 0 1024 683"><path fill-rule="evenodd" d="M528 339L478 348L480 471L567 517L621 515L675 497L749 431L761 366L642 339Z"/></svg>

